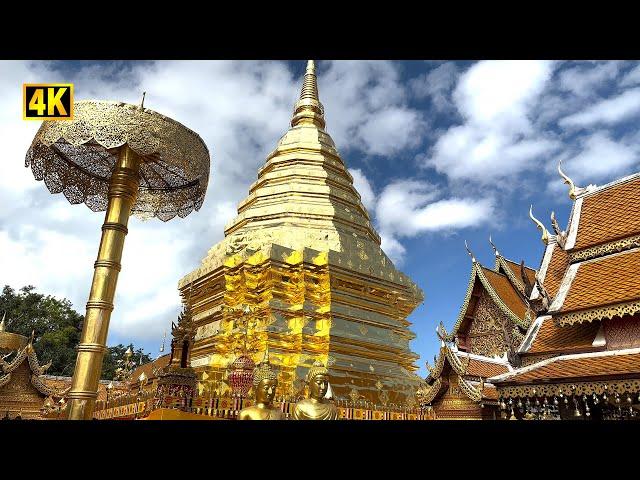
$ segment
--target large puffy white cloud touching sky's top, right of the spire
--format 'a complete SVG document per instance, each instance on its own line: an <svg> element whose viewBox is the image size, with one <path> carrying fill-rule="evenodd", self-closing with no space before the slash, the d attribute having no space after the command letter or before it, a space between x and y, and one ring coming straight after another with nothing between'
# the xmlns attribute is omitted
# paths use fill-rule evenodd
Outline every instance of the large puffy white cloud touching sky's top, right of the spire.
<svg viewBox="0 0 640 480"><path fill-rule="evenodd" d="M471 67L453 94L465 123L438 138L426 166L480 184L533 168L557 148L552 138L535 131L530 118L552 67L547 61L486 61Z"/></svg>

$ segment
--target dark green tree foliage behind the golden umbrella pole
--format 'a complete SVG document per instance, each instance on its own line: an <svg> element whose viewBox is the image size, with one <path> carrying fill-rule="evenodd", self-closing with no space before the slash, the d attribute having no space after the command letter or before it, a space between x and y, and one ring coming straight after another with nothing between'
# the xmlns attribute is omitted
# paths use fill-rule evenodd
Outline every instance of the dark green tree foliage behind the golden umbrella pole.
<svg viewBox="0 0 640 480"><path fill-rule="evenodd" d="M8 285L0 295L0 319L6 312L8 332L26 337L33 334L33 346L41 364L52 361L47 371L49 375L71 376L76 363L76 347L80 342L84 316L72 308L69 300L59 300L51 295L43 295L28 285L18 292ZM134 354L131 361L136 365L151 361L141 348L128 345ZM109 347L102 363L102 377L113 378L118 361L124 359L125 345Z"/></svg>

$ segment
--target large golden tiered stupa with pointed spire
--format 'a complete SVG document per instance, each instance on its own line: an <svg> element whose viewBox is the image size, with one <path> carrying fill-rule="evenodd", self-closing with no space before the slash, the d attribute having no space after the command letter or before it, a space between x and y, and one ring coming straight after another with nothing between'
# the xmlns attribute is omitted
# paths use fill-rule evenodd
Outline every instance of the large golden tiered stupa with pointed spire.
<svg viewBox="0 0 640 480"><path fill-rule="evenodd" d="M320 360L336 397L413 402L420 379L407 316L423 294L380 248L325 131L313 61L291 127L225 238L179 288L191 296L197 371L221 372L240 346L258 360L268 344L278 395L299 392Z"/></svg>

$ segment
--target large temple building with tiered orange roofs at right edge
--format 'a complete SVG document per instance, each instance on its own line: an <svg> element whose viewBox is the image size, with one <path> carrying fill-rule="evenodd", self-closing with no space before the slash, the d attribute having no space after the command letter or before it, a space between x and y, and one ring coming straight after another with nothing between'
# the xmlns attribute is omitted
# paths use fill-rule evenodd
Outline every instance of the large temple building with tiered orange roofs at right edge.
<svg viewBox="0 0 640 480"><path fill-rule="evenodd" d="M538 220L545 243L530 302L539 314L522 366L490 379L510 418L638 418L640 173L577 188L566 231ZM533 218L533 217L532 217Z"/></svg>

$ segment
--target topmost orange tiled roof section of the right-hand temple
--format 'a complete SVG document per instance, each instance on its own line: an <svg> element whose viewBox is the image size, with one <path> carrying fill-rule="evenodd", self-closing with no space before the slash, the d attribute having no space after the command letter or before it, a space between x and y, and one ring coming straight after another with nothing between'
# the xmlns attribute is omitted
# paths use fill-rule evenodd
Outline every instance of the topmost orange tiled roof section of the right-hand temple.
<svg viewBox="0 0 640 480"><path fill-rule="evenodd" d="M584 197L574 250L640 234L640 178Z"/></svg>

